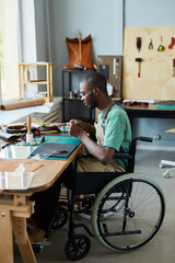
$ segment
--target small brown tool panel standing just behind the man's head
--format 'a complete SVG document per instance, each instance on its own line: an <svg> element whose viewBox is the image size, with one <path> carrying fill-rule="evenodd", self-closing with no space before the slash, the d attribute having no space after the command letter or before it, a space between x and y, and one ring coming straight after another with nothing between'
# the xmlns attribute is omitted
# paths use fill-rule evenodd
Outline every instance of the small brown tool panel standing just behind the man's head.
<svg viewBox="0 0 175 263"><path fill-rule="evenodd" d="M97 56L98 72L104 75L107 82L113 85L113 94L116 101L121 101L122 57L121 56Z"/></svg>

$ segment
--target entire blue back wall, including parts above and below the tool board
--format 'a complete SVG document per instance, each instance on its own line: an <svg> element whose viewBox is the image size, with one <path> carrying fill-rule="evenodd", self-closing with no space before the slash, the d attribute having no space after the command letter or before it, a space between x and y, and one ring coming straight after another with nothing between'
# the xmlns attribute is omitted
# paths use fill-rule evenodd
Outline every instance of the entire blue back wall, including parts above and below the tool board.
<svg viewBox="0 0 175 263"><path fill-rule="evenodd" d="M93 37L93 59L97 55L122 55L122 26L174 26L175 0L44 0L48 1L50 53L54 65L54 94L61 95L61 69L68 62L65 38L80 30L84 38ZM42 47L40 47L42 48ZM74 80L74 89L79 81ZM139 119L133 136L162 139L155 146L175 146L175 135L165 134L175 127L174 119Z"/></svg>

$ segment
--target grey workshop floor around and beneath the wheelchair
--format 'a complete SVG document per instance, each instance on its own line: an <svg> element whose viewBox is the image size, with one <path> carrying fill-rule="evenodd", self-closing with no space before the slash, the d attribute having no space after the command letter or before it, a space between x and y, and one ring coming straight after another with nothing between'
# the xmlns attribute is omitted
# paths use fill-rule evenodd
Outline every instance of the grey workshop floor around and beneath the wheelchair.
<svg viewBox="0 0 175 263"><path fill-rule="evenodd" d="M112 252L91 239L91 251L80 262L88 263L174 263L175 262L175 173L170 179L163 176L165 168L159 168L161 159L175 160L175 152L137 150L136 172L152 176L162 186L166 198L166 214L156 236L144 247L128 253ZM45 247L43 253L36 253L38 263L68 263L65 255L68 225L52 232L51 245ZM16 244L14 244L14 263L22 263Z"/></svg>

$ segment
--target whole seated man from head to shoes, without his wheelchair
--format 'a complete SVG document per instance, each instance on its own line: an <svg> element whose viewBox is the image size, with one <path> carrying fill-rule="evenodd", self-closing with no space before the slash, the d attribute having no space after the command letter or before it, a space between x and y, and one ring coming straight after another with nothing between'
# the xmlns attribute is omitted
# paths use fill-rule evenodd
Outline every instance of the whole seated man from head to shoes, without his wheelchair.
<svg viewBox="0 0 175 263"><path fill-rule="evenodd" d="M84 105L98 108L98 122L94 126L74 119L67 124L68 133L81 139L94 157L81 159L79 171L124 171L126 161L114 160L113 156L116 150L128 152L130 147L131 128L126 112L120 105L113 103L107 94L106 79L97 72L85 76L80 83L80 93ZM66 173L68 174L70 170L69 168ZM49 190L32 196L35 201L35 213L32 217L35 222L33 219L31 221L37 226L28 232L32 243L44 241L46 229L57 205L62 180L63 174ZM50 237L47 240L49 243Z"/></svg>

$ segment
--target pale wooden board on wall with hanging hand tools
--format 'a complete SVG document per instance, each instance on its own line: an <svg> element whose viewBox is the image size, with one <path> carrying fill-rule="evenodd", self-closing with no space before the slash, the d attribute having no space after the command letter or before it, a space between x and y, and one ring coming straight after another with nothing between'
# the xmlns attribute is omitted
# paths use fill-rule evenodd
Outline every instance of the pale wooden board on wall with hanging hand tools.
<svg viewBox="0 0 175 263"><path fill-rule="evenodd" d="M158 52L159 45L165 47ZM141 37L141 49L137 50L137 37ZM175 100L175 77L172 77L175 45L168 45L175 37L175 26L125 27L122 95L131 100ZM152 38L153 49L149 49ZM138 62L140 78L138 78Z"/></svg>

